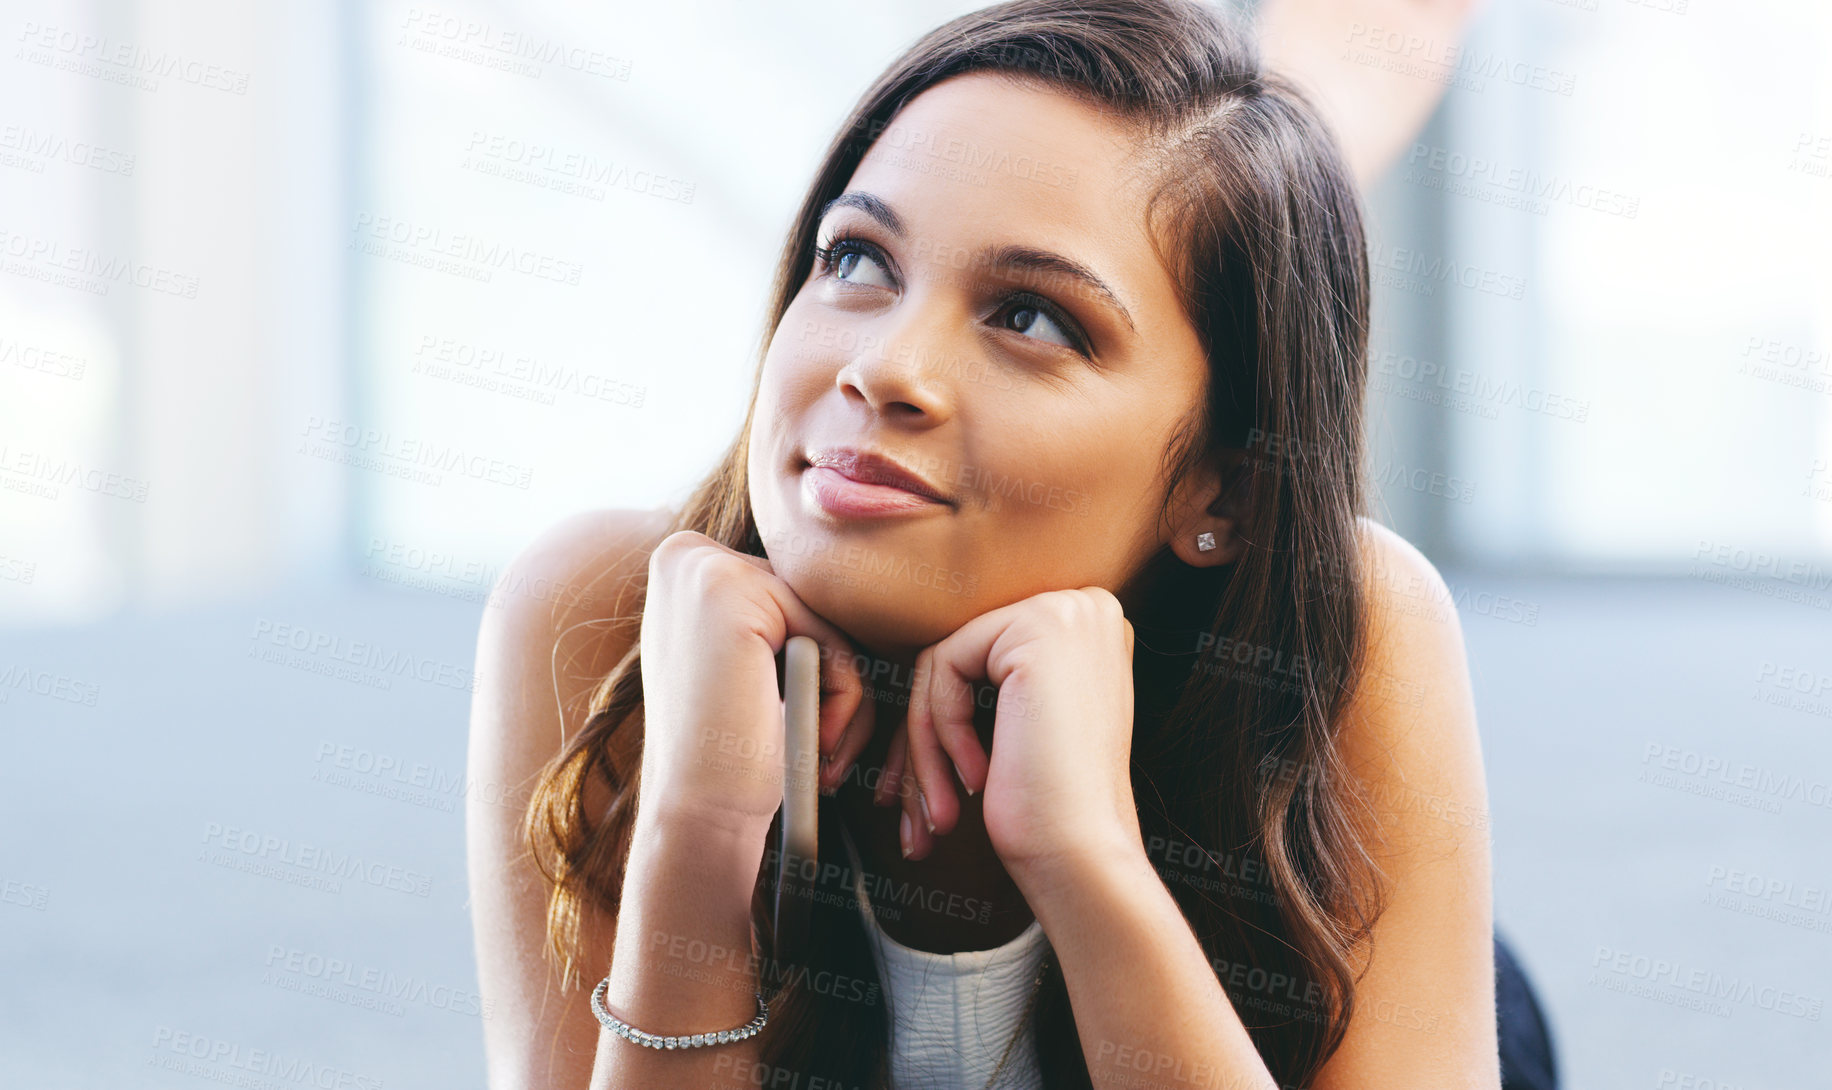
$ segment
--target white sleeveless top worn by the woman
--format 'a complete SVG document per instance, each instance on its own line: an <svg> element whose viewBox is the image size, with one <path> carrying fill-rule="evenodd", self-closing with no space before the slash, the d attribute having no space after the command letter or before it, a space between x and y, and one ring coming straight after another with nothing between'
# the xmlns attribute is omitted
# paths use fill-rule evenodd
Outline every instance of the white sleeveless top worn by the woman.
<svg viewBox="0 0 1832 1090"><path fill-rule="evenodd" d="M1020 1031L1037 969L1050 951L1042 923L1031 920L1017 938L989 951L936 954L907 947L878 925L859 850L845 826L841 837L890 1011L890 1085L980 1090L1017 1035L995 1090L1042 1090L1035 1033L1030 1024Z"/></svg>

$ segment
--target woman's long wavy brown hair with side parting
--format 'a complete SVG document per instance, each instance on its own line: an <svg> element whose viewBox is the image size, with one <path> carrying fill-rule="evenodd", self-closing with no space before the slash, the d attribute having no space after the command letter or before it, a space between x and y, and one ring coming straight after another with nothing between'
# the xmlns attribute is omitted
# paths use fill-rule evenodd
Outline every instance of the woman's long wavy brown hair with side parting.
<svg viewBox="0 0 1832 1090"><path fill-rule="evenodd" d="M905 103L980 70L1083 95L1149 137L1145 161L1160 181L1149 203L1154 236L1167 240L1161 256L1209 359L1207 398L1165 451L1167 480L1204 460L1233 467L1246 548L1207 570L1165 550L1141 573L1149 592L1130 617L1134 797L1154 867L1268 1068L1282 1085L1308 1085L1348 1026L1361 943L1379 912L1379 876L1337 755L1365 617L1369 271L1358 194L1315 110L1266 73L1248 33L1218 13L1193 0L997 4L925 35L852 110L782 249L766 352L808 277L821 207ZM753 381L753 407L755 398ZM746 474L749 436L747 416L674 529L766 555ZM621 892L641 703L632 645L528 810L529 846L551 881L548 936L568 986L577 986L581 905L614 912ZM586 810L588 779L608 788L608 812ZM824 845L837 843L835 821L823 801ZM753 901L766 964L771 870L758 874ZM857 905L845 898L815 899L821 943L804 973L769 982L780 987L760 1048L777 1074L883 1086L885 1008ZM821 980L870 987L863 1000L857 987L810 987L821 971ZM1035 1031L1046 1085L1088 1086L1059 967L1044 980Z"/></svg>

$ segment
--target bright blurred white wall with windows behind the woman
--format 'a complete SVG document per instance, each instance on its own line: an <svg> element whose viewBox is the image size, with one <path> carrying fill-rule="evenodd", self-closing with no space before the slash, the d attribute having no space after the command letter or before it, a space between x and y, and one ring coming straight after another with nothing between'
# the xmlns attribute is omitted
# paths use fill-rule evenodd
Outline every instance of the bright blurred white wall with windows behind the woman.
<svg viewBox="0 0 1832 1090"><path fill-rule="evenodd" d="M678 500L742 418L775 249L835 123L965 7L9 15L0 623L302 573L474 581L570 511ZM1466 566L1832 551L1832 392L1784 381L1832 383L1828 18L1486 7L1466 51L1568 73L1572 93L1453 86L1420 143L1638 213L1447 192L1471 180L1429 152L1376 187L1378 258L1526 280L1513 300L1387 277L1376 348L1587 409L1429 405L1442 387L1389 377L1376 469L1475 485L1389 485L1403 531ZM416 264L438 247L473 256ZM1751 377L1751 344L1821 363Z"/></svg>

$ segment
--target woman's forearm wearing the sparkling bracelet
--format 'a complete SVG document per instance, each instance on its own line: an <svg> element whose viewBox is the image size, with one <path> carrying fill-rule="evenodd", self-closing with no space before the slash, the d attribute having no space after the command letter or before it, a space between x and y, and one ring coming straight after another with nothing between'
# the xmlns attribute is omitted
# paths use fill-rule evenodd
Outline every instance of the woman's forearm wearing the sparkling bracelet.
<svg viewBox="0 0 1832 1090"><path fill-rule="evenodd" d="M605 1006L660 1035L735 1030L757 1015L751 888L768 830L641 808L630 845ZM595 984L595 982L594 982ZM757 1039L645 1048L601 1030L594 1090L751 1086Z"/></svg>

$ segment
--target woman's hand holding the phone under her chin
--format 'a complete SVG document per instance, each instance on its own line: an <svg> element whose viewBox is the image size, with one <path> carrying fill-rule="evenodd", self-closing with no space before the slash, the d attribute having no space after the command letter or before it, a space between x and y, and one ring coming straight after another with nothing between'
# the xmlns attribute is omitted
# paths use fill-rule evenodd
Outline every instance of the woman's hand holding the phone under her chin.
<svg viewBox="0 0 1832 1090"><path fill-rule="evenodd" d="M815 616L764 557L692 529L661 539L649 557L641 630L641 813L762 837L782 806L777 656L790 636L821 645L824 790L872 733L852 639Z"/></svg>

